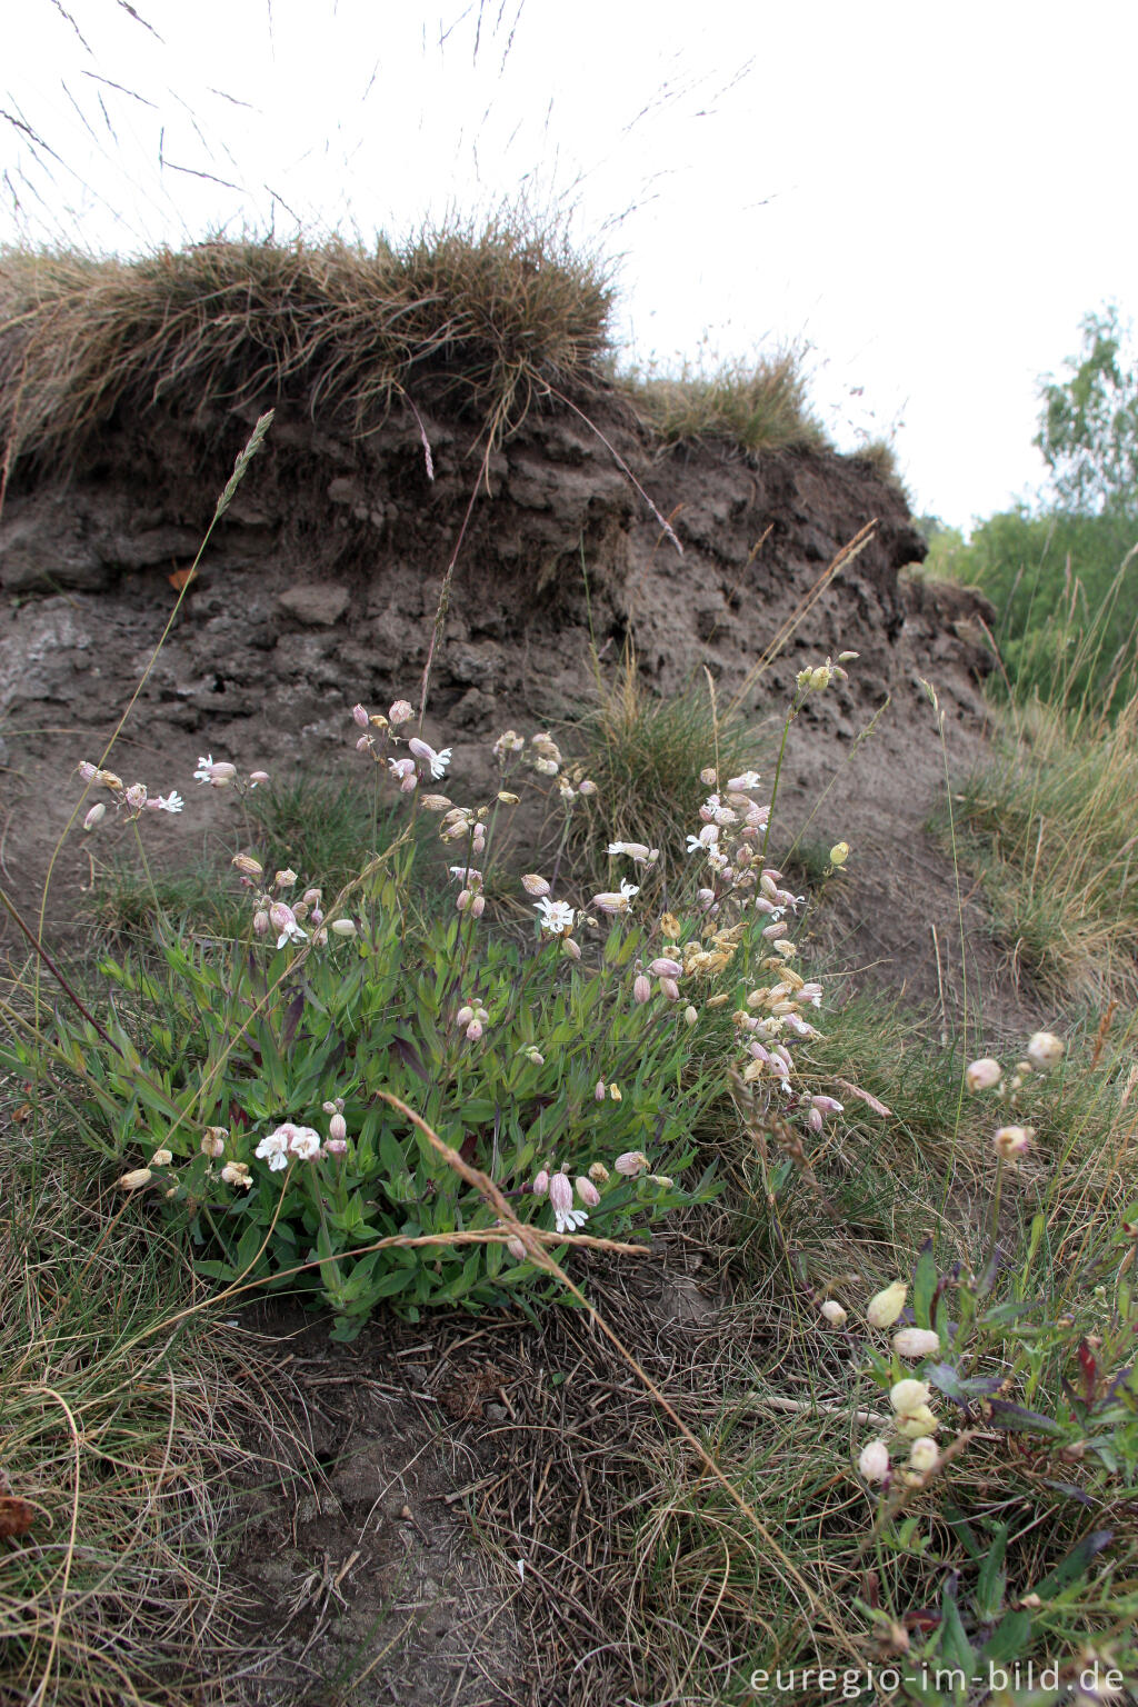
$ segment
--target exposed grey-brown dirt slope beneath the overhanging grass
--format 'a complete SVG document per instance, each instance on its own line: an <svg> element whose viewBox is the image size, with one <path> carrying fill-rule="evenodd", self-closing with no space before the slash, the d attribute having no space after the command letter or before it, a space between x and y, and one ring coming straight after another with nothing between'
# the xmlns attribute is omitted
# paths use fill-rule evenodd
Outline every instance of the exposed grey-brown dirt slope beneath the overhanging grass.
<svg viewBox="0 0 1138 1707"><path fill-rule="evenodd" d="M102 751L171 615L171 577L193 562L254 418L249 408L113 420L67 478L17 471L9 488L2 859L24 905L77 797L68 773ZM590 422L566 408L531 411L485 469L469 425L425 417L425 430L433 481L409 417L351 440L295 405L278 408L116 749L128 780L188 795L184 818L160 826L165 845L205 821L208 790L189 780L200 753L270 770L346 765L355 700L416 698L473 497L428 702L428 732L454 748L459 794L485 777L486 737L500 727L541 725L589 702L594 645L614 666L635 638L659 691L706 667L725 703L833 558L874 524L746 705L780 717L805 661L860 654L848 686L812 702L793 732L780 833L792 840L836 775L809 831L855 848L831 937L850 964L874 963L877 978L926 999L938 988L935 925L950 959L942 975L959 980L952 874L920 828L942 787L921 678L938 690L952 763L967 763L983 727L981 613L969 596L899 577L923 555L899 490L868 463L821 451L662 452L616 398L601 399ZM682 555L630 473L671 517ZM85 850L70 843L49 932L87 883ZM983 918L971 923L976 985L991 985L1000 958Z"/></svg>

